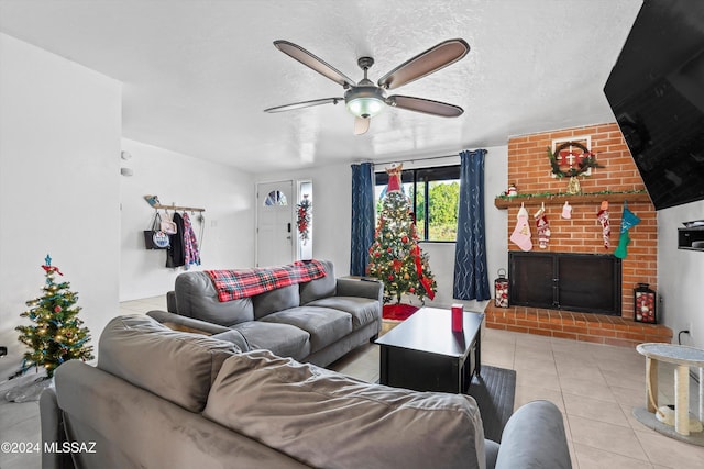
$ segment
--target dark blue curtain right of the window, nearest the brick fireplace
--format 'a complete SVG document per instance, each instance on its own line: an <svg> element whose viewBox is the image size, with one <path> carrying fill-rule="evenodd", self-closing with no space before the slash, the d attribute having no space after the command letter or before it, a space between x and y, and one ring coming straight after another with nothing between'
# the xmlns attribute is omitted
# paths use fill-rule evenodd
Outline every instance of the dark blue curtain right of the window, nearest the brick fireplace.
<svg viewBox="0 0 704 469"><path fill-rule="evenodd" d="M458 300L491 298L484 232L485 155L485 149L460 153L460 210L452 286L452 297Z"/></svg>

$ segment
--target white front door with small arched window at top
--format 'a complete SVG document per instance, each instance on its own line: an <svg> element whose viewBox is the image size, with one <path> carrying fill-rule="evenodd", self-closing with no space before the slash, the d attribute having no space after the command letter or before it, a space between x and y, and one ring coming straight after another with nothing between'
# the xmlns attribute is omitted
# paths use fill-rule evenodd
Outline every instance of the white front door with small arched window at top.
<svg viewBox="0 0 704 469"><path fill-rule="evenodd" d="M293 181L256 186L256 265L280 266L294 260Z"/></svg>

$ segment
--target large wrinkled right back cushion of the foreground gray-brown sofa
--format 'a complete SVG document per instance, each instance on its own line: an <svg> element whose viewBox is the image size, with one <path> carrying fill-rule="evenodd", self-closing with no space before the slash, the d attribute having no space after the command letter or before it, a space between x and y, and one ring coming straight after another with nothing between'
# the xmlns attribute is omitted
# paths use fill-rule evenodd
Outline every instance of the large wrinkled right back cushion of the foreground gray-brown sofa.
<svg viewBox="0 0 704 469"><path fill-rule="evenodd" d="M471 397L369 384L265 350L223 364L204 415L312 467L484 467Z"/></svg>

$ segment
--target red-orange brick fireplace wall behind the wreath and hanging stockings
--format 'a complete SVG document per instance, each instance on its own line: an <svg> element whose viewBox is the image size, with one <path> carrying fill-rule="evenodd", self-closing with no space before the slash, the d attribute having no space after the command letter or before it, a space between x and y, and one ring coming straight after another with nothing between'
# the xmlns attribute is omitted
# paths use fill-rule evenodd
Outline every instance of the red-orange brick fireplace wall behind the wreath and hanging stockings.
<svg viewBox="0 0 704 469"><path fill-rule="evenodd" d="M552 178L548 159L548 147L553 139L572 139L591 135L591 150L604 168L593 168L588 177L580 177L584 193L598 191L644 190L645 186L638 169L628 152L616 123L598 124L585 127L565 129L540 134L522 135L508 141L508 181L516 185L519 193L560 193L566 191L566 178ZM559 200L559 199L558 199ZM550 243L547 252L556 253L614 253L618 246L623 203L610 202L610 247L604 248L602 226L596 215L600 201L570 202L572 219L562 219L562 204L546 202L546 214L550 223ZM532 220L540 202L525 201L531 222L534 250L543 250L538 246L538 232ZM628 208L641 222L629 232L631 242L628 256L623 259L623 301L622 316L634 317L632 290L639 282L650 283L657 290L658 226L654 206L650 202L628 202ZM519 205L508 208L507 236L514 231ZM509 250L519 250L510 241Z"/></svg>

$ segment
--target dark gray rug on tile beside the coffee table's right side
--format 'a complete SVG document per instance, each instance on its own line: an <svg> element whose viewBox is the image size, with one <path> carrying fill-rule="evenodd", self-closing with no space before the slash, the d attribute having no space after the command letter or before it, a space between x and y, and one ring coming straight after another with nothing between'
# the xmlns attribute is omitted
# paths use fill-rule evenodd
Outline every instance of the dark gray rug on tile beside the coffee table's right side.
<svg viewBox="0 0 704 469"><path fill-rule="evenodd" d="M484 437L501 443L504 426L514 413L516 371L482 365L482 372L472 378L468 394L480 407Z"/></svg>

